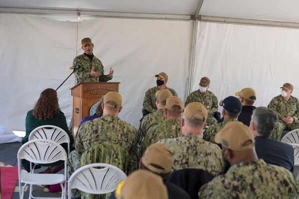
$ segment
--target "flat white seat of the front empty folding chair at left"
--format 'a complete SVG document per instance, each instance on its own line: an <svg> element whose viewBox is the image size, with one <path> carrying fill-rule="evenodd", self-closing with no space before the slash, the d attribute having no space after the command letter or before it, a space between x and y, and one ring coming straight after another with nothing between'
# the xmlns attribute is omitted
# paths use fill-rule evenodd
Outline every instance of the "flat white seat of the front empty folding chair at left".
<svg viewBox="0 0 299 199"><path fill-rule="evenodd" d="M54 185L64 183L63 174L25 174L22 183L34 185Z"/></svg>

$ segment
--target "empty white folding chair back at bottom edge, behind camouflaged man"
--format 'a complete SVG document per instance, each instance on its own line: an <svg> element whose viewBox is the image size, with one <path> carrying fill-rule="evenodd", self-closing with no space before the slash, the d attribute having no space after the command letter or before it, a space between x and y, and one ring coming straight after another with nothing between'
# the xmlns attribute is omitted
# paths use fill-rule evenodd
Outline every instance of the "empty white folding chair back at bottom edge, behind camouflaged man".
<svg viewBox="0 0 299 199"><path fill-rule="evenodd" d="M71 175L68 181L68 199L71 199L72 189L89 194L111 193L125 179L127 175L113 165L104 163L85 165Z"/></svg>

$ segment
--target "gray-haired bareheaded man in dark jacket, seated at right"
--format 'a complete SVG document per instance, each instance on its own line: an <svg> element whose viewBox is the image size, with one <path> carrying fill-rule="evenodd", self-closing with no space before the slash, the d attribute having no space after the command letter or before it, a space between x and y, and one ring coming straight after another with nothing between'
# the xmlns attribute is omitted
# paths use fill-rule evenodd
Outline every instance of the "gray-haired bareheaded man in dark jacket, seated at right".
<svg viewBox="0 0 299 199"><path fill-rule="evenodd" d="M289 144L271 139L277 125L278 115L271 108L258 107L253 110L250 129L255 136L255 149L259 159L268 164L283 166L293 172L294 150Z"/></svg>

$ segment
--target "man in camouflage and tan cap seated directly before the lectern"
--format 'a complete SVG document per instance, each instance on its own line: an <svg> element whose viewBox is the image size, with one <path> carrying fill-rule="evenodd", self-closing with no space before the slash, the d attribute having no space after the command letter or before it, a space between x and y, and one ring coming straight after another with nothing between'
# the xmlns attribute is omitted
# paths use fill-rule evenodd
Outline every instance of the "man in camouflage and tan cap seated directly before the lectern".
<svg viewBox="0 0 299 199"><path fill-rule="evenodd" d="M84 122L77 131L76 150L72 151L68 158L70 175L80 167L81 155L99 144L116 144L127 149L129 154L136 154L137 130L118 117L123 107L122 96L109 92L101 105L103 116Z"/></svg>

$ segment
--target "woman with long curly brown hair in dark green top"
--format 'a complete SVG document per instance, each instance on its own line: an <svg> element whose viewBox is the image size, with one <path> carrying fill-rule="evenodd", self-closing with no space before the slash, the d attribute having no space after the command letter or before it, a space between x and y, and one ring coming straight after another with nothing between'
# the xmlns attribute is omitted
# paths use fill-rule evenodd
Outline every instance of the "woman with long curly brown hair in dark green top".
<svg viewBox="0 0 299 199"><path fill-rule="evenodd" d="M53 89L46 89L41 92L39 99L34 105L34 108L27 112L25 121L26 135L22 139L22 144L28 142L28 136L33 129L42 125L54 125L62 128L70 137L70 145L74 143L74 138L68 129L64 113L60 110L57 93ZM67 151L67 143L63 143L61 146L63 146L65 151ZM63 161L48 164L46 166L50 167L40 173L57 173L64 168L64 164L61 163L63 163ZM30 171L30 165L28 161L23 159L22 165L27 172ZM40 168L40 166L36 165L35 169L38 168Z"/></svg>

